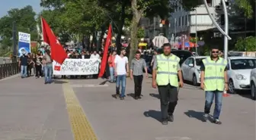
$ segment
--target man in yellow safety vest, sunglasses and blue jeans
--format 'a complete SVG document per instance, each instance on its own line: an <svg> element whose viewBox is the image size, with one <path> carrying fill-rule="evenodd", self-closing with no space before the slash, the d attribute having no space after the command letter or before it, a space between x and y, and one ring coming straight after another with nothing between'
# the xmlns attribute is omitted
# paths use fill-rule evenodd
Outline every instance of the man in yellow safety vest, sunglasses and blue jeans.
<svg viewBox="0 0 256 140"><path fill-rule="evenodd" d="M203 59L201 69L201 88L206 92L204 106L204 121L208 120L210 108L215 96L215 108L213 112L213 123L221 124L219 114L222 107L223 91L228 89L227 85L227 61L219 56L219 49L212 48L209 58Z"/></svg>

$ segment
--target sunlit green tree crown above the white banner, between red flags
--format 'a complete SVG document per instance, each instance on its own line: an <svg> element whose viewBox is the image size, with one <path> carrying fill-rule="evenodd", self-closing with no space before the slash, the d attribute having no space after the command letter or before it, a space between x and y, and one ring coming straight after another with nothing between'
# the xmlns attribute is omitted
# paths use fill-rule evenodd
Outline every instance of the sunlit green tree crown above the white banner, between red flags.
<svg viewBox="0 0 256 140"><path fill-rule="evenodd" d="M58 19L61 24L61 35L69 35L69 39L75 42L82 41L84 36L92 34L96 38L96 31L102 30L106 24L106 11L93 0L42 0L45 8L53 8L59 11ZM53 19L54 20L54 19ZM100 39L101 40L101 39Z"/></svg>

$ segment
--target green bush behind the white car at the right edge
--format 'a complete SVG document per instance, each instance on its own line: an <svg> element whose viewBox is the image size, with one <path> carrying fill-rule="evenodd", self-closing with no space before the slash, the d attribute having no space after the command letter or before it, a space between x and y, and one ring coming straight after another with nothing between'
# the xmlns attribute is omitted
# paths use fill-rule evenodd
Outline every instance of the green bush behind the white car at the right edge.
<svg viewBox="0 0 256 140"><path fill-rule="evenodd" d="M235 43L235 50L236 51L256 51L256 37L248 36L245 39L238 38L237 42Z"/></svg>

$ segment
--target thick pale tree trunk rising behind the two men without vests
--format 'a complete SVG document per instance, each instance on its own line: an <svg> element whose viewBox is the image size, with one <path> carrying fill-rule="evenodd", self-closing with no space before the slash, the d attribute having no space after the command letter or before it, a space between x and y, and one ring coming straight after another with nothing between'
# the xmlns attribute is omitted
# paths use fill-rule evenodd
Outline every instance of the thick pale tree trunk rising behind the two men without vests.
<svg viewBox="0 0 256 140"><path fill-rule="evenodd" d="M132 11L133 11L133 20L130 26L131 41L130 41L129 62L133 60L135 51L138 48L137 32L138 32L139 20L142 17L142 11L139 11L137 9L137 0L131 0L131 5L132 5Z"/></svg>

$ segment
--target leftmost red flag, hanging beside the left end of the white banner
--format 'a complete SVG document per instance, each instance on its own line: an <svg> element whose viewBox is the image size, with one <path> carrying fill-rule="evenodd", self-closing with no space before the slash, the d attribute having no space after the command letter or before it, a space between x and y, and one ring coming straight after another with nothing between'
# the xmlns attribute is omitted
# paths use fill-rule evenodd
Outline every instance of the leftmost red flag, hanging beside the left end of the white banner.
<svg viewBox="0 0 256 140"><path fill-rule="evenodd" d="M46 20L42 19L42 32L43 32L43 41L50 45L51 47L51 58L59 64L62 64L67 58L66 51L59 43L59 40L54 35L53 31L50 29Z"/></svg>

